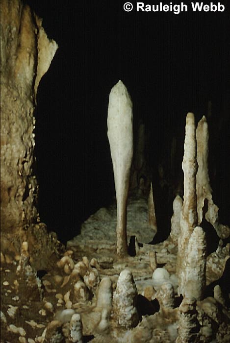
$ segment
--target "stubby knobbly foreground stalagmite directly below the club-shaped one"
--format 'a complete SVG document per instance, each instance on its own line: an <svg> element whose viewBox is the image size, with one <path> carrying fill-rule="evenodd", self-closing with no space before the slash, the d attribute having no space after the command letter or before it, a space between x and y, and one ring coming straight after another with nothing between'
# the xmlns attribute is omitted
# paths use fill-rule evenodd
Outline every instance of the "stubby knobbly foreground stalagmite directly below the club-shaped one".
<svg viewBox="0 0 230 343"><path fill-rule="evenodd" d="M136 285L132 273L123 270L117 281L117 288L113 294L113 318L115 322L125 328L135 327L139 315L135 306L137 297Z"/></svg>

